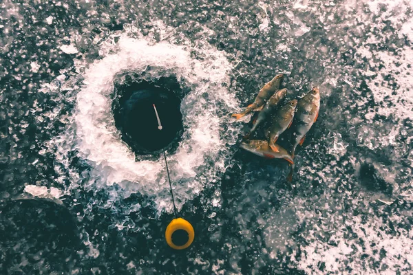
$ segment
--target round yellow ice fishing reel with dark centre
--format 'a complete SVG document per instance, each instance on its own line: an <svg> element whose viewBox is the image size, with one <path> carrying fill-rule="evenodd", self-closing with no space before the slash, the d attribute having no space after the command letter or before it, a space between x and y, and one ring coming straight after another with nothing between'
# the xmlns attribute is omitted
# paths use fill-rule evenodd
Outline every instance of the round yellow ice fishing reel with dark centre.
<svg viewBox="0 0 413 275"><path fill-rule="evenodd" d="M165 239L174 250L188 248L194 237L195 232L191 223L182 218L173 219L167 226L167 230L165 230Z"/></svg>

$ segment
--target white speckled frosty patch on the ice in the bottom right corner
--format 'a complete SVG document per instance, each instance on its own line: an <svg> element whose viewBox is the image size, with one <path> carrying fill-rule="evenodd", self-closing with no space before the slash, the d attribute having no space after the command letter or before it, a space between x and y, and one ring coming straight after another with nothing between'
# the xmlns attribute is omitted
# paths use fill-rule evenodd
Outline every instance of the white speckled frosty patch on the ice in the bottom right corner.
<svg viewBox="0 0 413 275"><path fill-rule="evenodd" d="M341 223L339 223L341 224ZM413 235L400 229L397 234L386 232L386 225L377 217L362 222L352 217L343 222L342 228L331 226L327 242L314 240L304 250L306 257L299 267L307 274L396 274L410 270L413 264ZM384 228L383 228L384 227ZM352 237L346 236L351 228ZM387 228L388 229L388 228Z"/></svg>

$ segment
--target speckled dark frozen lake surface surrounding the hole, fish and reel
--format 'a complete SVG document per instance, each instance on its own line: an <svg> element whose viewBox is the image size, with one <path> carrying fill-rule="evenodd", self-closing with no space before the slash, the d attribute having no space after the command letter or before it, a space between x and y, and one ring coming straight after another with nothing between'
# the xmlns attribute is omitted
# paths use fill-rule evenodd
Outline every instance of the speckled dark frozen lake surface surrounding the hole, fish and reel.
<svg viewBox="0 0 413 275"><path fill-rule="evenodd" d="M45 2L0 3L1 274L412 274L412 1ZM292 188L229 115L279 73L321 91ZM182 98L182 252L163 159L116 128L139 80Z"/></svg>

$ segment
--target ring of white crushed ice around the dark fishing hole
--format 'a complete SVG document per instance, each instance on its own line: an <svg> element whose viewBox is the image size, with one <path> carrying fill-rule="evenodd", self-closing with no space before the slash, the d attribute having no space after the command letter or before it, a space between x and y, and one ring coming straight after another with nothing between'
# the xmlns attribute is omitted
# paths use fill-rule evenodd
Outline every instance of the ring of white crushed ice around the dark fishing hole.
<svg viewBox="0 0 413 275"><path fill-rule="evenodd" d="M198 51L200 60L192 57ZM177 207L212 186L226 170L231 145L240 133L228 113L237 110L235 92L228 90L232 67L222 52L202 50L166 42L151 45L145 37L120 36L115 54L108 54L85 70L84 86L76 96L75 148L92 166L85 188L118 184L123 191L111 193L113 200L134 192L150 195L158 211L171 212L172 203L165 173L165 161L140 159L123 142L111 111L114 83L125 73L138 80L156 83L175 77L186 91L180 105L184 131L176 152L167 152ZM219 195L211 205L220 205Z"/></svg>

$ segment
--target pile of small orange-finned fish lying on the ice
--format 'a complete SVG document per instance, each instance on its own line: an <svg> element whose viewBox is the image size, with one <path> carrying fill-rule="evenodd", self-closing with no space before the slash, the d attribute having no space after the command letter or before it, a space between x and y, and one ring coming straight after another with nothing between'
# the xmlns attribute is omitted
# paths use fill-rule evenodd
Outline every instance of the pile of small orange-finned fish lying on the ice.
<svg viewBox="0 0 413 275"><path fill-rule="evenodd" d="M303 144L306 133L317 120L320 92L314 87L304 97L286 102L287 89L279 89L283 79L282 74L275 76L260 89L253 104L248 105L242 113L234 113L232 116L239 120L251 111L259 112L255 115L251 131L245 135L241 148L261 157L286 159L291 165L287 179L292 181L295 149L298 144ZM264 128L265 140L251 139L260 128ZM275 142L289 128L291 131L286 150Z"/></svg>

